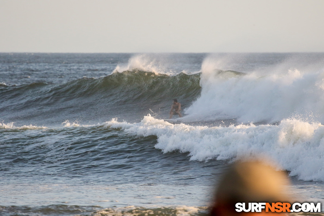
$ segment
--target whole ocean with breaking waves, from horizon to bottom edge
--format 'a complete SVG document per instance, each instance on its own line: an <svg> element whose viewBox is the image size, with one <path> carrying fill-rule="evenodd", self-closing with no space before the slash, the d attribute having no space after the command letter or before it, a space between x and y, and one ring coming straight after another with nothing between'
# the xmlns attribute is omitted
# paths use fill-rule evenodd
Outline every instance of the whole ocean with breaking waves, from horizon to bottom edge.
<svg viewBox="0 0 324 216"><path fill-rule="evenodd" d="M251 155L323 204L323 126L324 53L0 53L0 214L208 215Z"/></svg>

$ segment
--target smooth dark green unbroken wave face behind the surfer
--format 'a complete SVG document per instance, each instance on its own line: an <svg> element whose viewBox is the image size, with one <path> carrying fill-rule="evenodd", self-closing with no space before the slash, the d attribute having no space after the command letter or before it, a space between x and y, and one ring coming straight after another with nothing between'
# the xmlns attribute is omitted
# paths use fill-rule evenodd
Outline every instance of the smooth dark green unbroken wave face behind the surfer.
<svg viewBox="0 0 324 216"><path fill-rule="evenodd" d="M186 107L199 96L199 80L199 74L168 76L133 70L60 85L3 86L0 109L6 110L2 118L21 124L61 124L66 119L98 122L113 117L135 121L161 110L166 118L173 98L178 97Z"/></svg>

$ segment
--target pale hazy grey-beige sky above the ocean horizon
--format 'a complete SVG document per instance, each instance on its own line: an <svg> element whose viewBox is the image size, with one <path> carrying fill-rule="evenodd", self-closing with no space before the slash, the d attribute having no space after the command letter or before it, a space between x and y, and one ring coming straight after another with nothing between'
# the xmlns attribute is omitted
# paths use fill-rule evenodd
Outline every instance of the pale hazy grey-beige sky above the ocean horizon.
<svg viewBox="0 0 324 216"><path fill-rule="evenodd" d="M324 52L324 0L0 0L0 52Z"/></svg>

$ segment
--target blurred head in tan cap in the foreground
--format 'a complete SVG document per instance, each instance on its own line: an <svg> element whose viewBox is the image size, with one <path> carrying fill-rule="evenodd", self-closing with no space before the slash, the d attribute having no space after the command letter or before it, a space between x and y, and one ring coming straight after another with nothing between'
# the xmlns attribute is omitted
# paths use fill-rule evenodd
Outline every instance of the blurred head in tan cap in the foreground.
<svg viewBox="0 0 324 216"><path fill-rule="evenodd" d="M221 178L211 216L271 215L272 212L236 212L236 203L287 202L285 186L289 180L283 172L261 161L245 160L232 164ZM285 214L279 213L281 215Z"/></svg>

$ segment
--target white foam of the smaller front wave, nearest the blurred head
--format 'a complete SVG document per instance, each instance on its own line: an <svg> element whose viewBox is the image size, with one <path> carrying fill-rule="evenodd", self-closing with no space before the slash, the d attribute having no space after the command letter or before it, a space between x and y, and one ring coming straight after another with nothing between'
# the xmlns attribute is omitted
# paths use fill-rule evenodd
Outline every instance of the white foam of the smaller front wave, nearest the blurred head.
<svg viewBox="0 0 324 216"><path fill-rule="evenodd" d="M157 149L188 152L190 160L265 155L300 179L324 181L324 127L320 123L285 119L279 125L207 127L173 125L148 115L140 123L111 120L105 126L138 136L155 135Z"/></svg>

